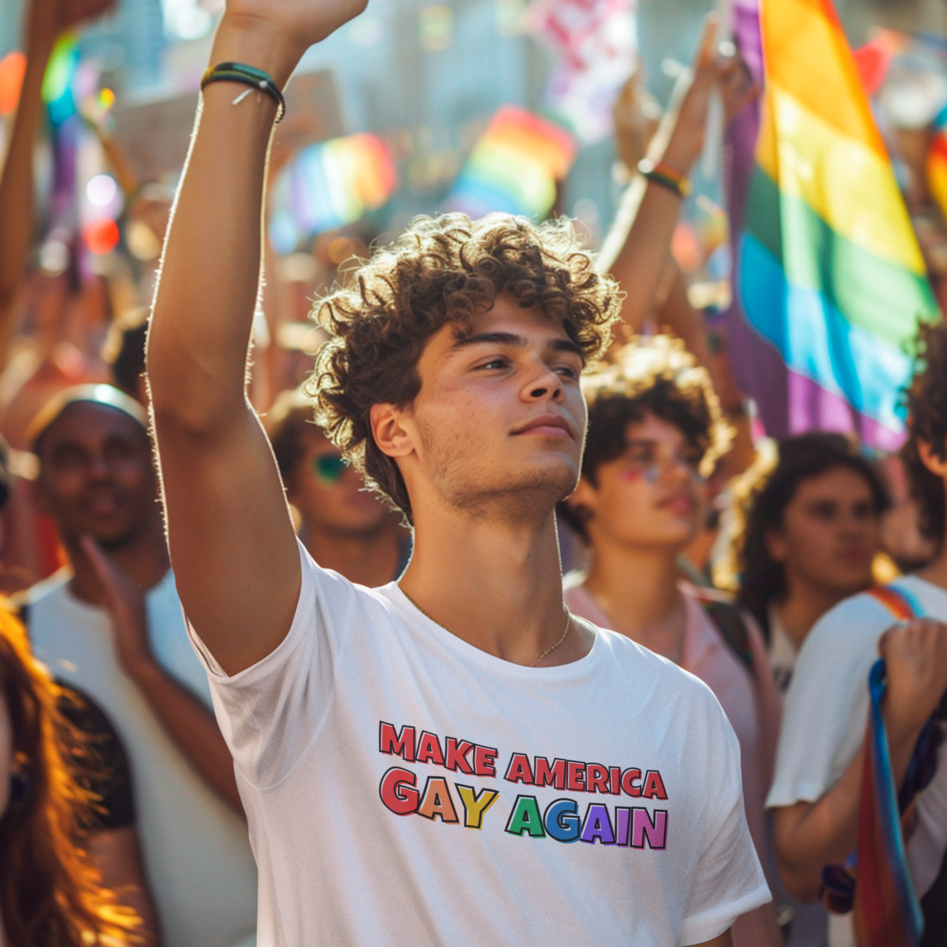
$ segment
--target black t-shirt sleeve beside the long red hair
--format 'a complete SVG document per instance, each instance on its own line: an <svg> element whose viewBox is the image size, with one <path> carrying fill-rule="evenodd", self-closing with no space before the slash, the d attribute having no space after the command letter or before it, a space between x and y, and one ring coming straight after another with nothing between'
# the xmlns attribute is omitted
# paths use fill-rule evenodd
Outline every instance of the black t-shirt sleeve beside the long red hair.
<svg viewBox="0 0 947 947"><path fill-rule="evenodd" d="M95 834L134 825L132 777L115 727L88 695L63 684L60 689L66 756L73 778L93 795L92 807L80 815L82 830Z"/></svg>

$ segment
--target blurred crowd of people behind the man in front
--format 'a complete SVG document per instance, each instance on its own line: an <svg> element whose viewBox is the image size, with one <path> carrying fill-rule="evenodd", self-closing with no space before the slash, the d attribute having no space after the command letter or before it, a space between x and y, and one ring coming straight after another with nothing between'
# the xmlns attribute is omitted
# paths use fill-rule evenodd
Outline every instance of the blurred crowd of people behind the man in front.
<svg viewBox="0 0 947 947"><path fill-rule="evenodd" d="M256 869L175 593L149 438L146 314L173 193L136 180L90 115L122 191L113 247L94 256L55 207L37 213L47 63L64 30L108 6L27 5L0 180L0 944L249 947ZM831 794L864 735L855 688L903 617L860 594L901 589L908 614L947 617L947 329L919 339L900 453L842 433L765 437L699 308L706 257L682 249L680 202L635 172L649 156L692 168L712 102L726 120L757 94L711 23L667 115L637 76L616 102L629 183L599 267L624 291L625 334L584 382L589 434L560 541L571 611L703 679L736 731L776 897L737 922L735 944L821 947L846 937L819 894L822 868L849 855ZM905 172L904 188L942 300L947 230L922 180ZM249 393L303 543L376 586L402 573L411 533L313 423L304 384L321 342L311 296L350 278L371 236L269 248ZM925 945L947 943L939 804L919 830Z"/></svg>

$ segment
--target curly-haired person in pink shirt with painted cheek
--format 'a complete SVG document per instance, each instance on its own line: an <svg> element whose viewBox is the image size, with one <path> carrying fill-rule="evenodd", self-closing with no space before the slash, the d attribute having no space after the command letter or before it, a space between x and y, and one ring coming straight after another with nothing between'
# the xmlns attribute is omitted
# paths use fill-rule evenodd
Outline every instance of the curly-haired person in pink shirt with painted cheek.
<svg viewBox="0 0 947 947"><path fill-rule="evenodd" d="M567 575L573 615L649 648L713 690L740 741L746 817L760 858L778 700L756 624L679 581L678 556L704 514L705 477L728 446L704 368L668 336L636 339L587 375L589 433L576 491L560 507L588 548ZM781 943L764 904L733 927L735 947Z"/></svg>

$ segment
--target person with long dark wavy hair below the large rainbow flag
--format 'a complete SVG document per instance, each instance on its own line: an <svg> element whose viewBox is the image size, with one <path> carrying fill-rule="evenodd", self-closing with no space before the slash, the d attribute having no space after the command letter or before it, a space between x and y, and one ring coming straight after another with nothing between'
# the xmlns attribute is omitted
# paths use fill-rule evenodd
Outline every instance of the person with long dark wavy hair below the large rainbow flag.
<svg viewBox="0 0 947 947"><path fill-rule="evenodd" d="M738 593L762 628L780 694L815 622L871 584L887 504L875 468L844 435L780 443L746 517Z"/></svg>

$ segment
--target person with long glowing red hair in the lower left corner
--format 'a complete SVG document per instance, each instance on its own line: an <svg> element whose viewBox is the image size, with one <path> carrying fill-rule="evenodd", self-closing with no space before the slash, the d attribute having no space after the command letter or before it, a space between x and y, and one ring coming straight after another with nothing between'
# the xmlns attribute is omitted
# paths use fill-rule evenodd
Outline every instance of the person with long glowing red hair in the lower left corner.
<svg viewBox="0 0 947 947"><path fill-rule="evenodd" d="M90 735L63 718L65 699L23 625L0 608L0 944L153 944L86 854L98 800L80 774L90 776L101 757Z"/></svg>

